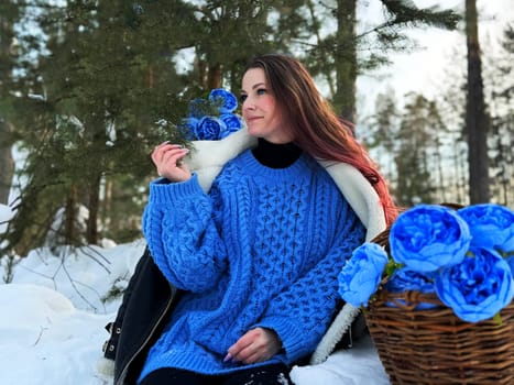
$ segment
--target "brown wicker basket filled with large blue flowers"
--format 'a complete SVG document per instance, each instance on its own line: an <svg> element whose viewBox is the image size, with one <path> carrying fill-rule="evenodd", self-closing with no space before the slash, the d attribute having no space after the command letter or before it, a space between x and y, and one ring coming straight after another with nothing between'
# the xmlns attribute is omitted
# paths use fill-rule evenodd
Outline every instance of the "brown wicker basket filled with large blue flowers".
<svg viewBox="0 0 514 385"><path fill-rule="evenodd" d="M511 209L419 205L353 252L339 293L393 384L514 384L513 260Z"/></svg>

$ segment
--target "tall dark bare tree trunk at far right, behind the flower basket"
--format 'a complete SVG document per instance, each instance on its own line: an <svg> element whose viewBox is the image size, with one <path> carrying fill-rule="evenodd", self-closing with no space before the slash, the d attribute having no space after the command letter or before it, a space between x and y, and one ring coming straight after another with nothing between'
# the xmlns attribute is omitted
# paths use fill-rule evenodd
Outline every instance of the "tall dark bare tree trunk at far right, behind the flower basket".
<svg viewBox="0 0 514 385"><path fill-rule="evenodd" d="M488 125L483 98L482 62L478 34L477 1L466 0L468 45L468 95L466 134L468 139L470 204L489 201Z"/></svg>

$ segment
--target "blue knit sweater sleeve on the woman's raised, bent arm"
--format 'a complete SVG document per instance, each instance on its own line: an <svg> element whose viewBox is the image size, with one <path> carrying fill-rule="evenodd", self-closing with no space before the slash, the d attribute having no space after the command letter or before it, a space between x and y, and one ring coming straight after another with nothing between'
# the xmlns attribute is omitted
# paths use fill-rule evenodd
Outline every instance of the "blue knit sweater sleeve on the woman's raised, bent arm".
<svg viewBox="0 0 514 385"><path fill-rule="evenodd" d="M186 182L150 184L142 229L155 264L176 287L216 286L227 258L214 221L211 198L194 174Z"/></svg>

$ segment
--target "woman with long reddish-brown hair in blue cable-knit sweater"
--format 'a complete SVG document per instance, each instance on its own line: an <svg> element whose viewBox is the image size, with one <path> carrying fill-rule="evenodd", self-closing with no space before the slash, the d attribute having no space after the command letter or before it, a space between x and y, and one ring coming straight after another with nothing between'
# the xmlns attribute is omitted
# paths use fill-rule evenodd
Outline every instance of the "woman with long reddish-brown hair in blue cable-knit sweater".
<svg viewBox="0 0 514 385"><path fill-rule="evenodd" d="M383 178L299 62L255 58L241 100L248 132L197 143L190 160L169 143L152 154L162 178L143 232L182 295L142 341L139 384L291 384L330 326L346 258L394 219Z"/></svg>

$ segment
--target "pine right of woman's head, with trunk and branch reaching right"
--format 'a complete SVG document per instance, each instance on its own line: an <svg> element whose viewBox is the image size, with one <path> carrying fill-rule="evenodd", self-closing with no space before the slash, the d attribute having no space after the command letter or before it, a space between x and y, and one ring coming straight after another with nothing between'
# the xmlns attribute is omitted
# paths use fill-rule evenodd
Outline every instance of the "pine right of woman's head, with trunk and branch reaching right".
<svg viewBox="0 0 514 385"><path fill-rule="evenodd" d="M404 0L381 0L385 20L365 31L357 31L357 0L333 0L322 2L318 8L318 20L336 18L336 29L317 45L306 51L307 62L318 62L313 73L326 79L336 79L330 86L332 105L342 117L356 121L356 81L365 72L387 64L392 52L409 50L412 41L406 31L418 26L455 29L459 16L450 10L438 8L419 9L414 2ZM359 53L369 52L368 55ZM324 66L321 63L325 63ZM336 72L336 76L330 73Z"/></svg>

